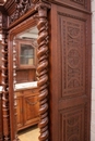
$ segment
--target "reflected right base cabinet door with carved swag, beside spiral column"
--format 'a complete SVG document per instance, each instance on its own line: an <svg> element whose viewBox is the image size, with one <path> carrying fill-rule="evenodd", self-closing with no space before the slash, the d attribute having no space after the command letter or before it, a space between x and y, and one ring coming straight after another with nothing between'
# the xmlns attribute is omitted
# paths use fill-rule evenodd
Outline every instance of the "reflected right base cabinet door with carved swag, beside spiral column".
<svg viewBox="0 0 95 141"><path fill-rule="evenodd" d="M38 93L28 90L24 97L24 126L38 123Z"/></svg>

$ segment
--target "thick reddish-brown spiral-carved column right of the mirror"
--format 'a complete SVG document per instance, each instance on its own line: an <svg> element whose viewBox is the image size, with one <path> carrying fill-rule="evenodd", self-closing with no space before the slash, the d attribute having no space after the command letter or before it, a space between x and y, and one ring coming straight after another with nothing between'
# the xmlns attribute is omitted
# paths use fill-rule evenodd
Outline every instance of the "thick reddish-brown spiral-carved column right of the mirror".
<svg viewBox="0 0 95 141"><path fill-rule="evenodd" d="M39 88L39 129L40 136L39 141L48 141L48 21L47 21L47 10L48 4L40 2L37 4L38 10L38 88Z"/></svg>

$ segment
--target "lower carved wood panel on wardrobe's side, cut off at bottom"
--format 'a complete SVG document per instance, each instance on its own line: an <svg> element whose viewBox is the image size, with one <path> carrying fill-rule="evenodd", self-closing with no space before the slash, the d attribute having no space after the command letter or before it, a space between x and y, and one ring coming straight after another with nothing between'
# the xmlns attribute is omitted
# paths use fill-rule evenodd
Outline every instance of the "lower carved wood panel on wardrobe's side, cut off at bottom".
<svg viewBox="0 0 95 141"><path fill-rule="evenodd" d="M60 141L86 141L86 104L60 112Z"/></svg>

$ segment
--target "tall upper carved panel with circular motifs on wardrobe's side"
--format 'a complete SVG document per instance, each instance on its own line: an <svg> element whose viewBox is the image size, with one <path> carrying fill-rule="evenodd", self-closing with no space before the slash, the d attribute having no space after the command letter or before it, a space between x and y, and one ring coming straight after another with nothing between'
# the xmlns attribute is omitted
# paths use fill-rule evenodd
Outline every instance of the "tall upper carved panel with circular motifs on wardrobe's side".
<svg viewBox="0 0 95 141"><path fill-rule="evenodd" d="M62 53L62 97L85 94L85 20L59 13ZM73 20L73 21L72 21Z"/></svg>

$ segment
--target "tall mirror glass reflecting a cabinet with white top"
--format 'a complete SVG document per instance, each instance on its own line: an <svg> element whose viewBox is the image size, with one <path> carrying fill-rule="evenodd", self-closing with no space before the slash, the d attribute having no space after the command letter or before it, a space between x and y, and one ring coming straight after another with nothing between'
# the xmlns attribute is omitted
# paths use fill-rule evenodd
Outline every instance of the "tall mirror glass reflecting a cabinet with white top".
<svg viewBox="0 0 95 141"><path fill-rule="evenodd" d="M21 141L38 141L39 137L37 37L36 26L13 37L14 102L17 115L15 130Z"/></svg>

